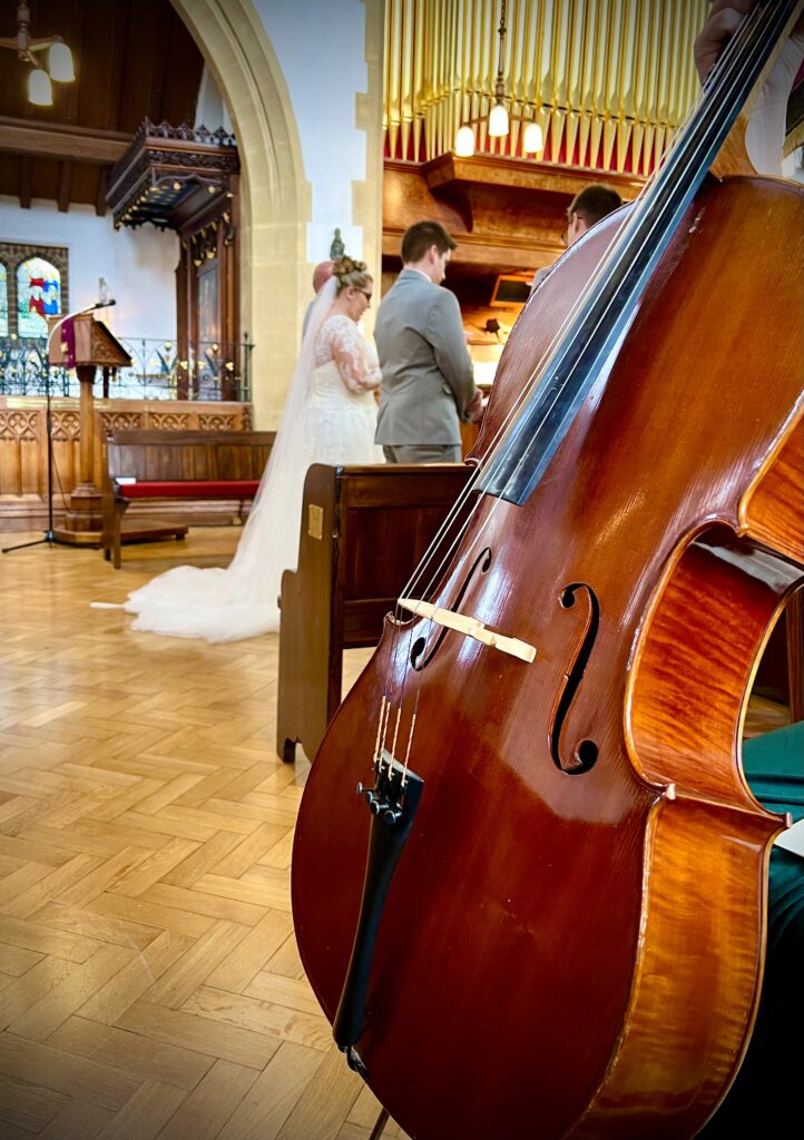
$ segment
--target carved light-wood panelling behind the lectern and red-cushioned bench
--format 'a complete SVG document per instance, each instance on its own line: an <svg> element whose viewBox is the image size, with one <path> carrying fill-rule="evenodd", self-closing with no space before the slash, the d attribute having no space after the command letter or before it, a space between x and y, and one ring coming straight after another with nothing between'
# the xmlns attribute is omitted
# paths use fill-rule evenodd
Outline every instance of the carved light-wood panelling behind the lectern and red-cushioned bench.
<svg viewBox="0 0 804 1140"><path fill-rule="evenodd" d="M103 441L115 431L249 431L252 406L235 401L96 400L94 478L101 486ZM79 478L81 423L78 399L51 400L54 513ZM47 408L43 397L0 397L0 530L43 528L47 508ZM203 519L216 521L214 510Z"/></svg>

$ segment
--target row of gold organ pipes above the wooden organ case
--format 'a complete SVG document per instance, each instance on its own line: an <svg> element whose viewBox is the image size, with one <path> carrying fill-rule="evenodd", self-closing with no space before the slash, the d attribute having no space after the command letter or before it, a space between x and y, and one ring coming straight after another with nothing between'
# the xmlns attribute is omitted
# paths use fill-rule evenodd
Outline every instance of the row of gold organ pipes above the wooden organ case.
<svg viewBox="0 0 804 1140"><path fill-rule="evenodd" d="M488 139L500 0L385 0L383 128L395 158L452 150L478 119L478 152L520 156L521 129ZM507 0L506 105L534 117L544 158L650 172L698 93L692 43L707 0Z"/></svg>

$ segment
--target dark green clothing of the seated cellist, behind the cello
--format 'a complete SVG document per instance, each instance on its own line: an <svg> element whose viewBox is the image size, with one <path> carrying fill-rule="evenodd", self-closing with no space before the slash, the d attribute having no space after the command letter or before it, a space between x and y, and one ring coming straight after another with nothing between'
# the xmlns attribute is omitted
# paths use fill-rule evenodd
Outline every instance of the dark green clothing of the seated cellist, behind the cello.
<svg viewBox="0 0 804 1140"><path fill-rule="evenodd" d="M804 816L804 722L746 741L748 784L769 811ZM771 852L768 958L756 1025L729 1094L700 1140L798 1135L804 1127L804 858Z"/></svg>

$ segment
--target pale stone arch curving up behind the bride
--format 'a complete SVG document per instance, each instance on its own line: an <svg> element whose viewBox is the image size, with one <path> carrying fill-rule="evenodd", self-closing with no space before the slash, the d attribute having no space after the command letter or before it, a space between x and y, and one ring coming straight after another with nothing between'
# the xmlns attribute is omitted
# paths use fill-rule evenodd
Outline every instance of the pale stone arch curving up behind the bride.
<svg viewBox="0 0 804 1140"><path fill-rule="evenodd" d="M225 97L241 158L241 327L257 426L278 423L309 300L310 188L290 95L251 0L171 0Z"/></svg>

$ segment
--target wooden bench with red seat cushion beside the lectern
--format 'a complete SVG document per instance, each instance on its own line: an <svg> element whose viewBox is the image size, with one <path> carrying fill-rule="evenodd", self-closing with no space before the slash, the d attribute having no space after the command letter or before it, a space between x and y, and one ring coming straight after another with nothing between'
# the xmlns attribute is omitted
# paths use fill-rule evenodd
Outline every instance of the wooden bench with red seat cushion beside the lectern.
<svg viewBox="0 0 804 1140"><path fill-rule="evenodd" d="M268 431L119 431L106 440L103 535L106 560L120 569L124 542L154 537L154 523L123 522L131 503L253 499L276 433ZM187 527L156 524L159 537ZM148 532L151 530L151 534Z"/></svg>

